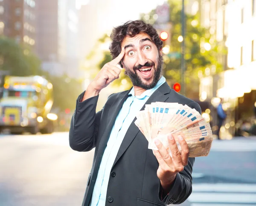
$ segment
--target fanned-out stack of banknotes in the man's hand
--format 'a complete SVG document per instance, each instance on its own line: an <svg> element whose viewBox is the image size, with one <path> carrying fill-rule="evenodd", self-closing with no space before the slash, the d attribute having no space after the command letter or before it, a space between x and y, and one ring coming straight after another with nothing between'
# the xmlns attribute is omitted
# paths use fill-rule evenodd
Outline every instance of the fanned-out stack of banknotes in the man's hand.
<svg viewBox="0 0 256 206"><path fill-rule="evenodd" d="M209 154L212 145L212 130L201 114L187 105L167 102L154 102L145 105L145 110L137 114L135 125L148 140L148 148L158 150L154 144L159 139L169 148L168 135L172 134L181 151L178 136L181 135L189 146L189 157L201 157Z"/></svg>

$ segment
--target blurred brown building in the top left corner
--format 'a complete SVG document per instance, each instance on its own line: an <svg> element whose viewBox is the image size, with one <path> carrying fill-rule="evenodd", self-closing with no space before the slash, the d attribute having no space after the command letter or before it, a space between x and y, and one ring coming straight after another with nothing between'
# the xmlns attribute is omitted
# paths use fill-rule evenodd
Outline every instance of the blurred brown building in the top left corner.
<svg viewBox="0 0 256 206"><path fill-rule="evenodd" d="M0 35L23 41L35 49L35 7L35 0L0 0Z"/></svg>

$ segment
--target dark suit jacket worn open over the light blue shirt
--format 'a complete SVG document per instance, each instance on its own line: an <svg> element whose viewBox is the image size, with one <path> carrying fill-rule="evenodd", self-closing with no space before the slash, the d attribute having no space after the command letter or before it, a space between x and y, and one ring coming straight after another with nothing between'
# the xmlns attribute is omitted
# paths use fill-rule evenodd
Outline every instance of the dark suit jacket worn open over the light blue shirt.
<svg viewBox="0 0 256 206"><path fill-rule="evenodd" d="M103 109L97 113L95 110L98 96L80 102L84 96L84 93L81 93L77 99L70 127L70 147L76 151L90 151L95 147L93 166L82 206L88 206L90 203L102 155L116 116L128 98L128 93L129 91L124 91L109 96ZM197 103L176 93L166 82L145 104L151 102L178 102L187 104L201 113ZM141 110L144 108L145 105ZM159 164L152 150L148 149L148 141L134 121L125 134L111 169L106 206L163 206L184 202L192 192L191 174L195 158L189 158L188 165L177 174L169 194L162 197L162 188L157 177Z"/></svg>

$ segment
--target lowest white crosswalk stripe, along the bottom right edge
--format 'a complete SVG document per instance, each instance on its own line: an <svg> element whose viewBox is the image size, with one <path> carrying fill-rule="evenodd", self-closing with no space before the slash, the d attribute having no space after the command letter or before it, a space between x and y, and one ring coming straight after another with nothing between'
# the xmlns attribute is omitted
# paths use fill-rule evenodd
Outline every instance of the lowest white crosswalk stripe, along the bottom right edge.
<svg viewBox="0 0 256 206"><path fill-rule="evenodd" d="M256 194L195 192L189 196L191 203L250 203L256 204Z"/></svg>

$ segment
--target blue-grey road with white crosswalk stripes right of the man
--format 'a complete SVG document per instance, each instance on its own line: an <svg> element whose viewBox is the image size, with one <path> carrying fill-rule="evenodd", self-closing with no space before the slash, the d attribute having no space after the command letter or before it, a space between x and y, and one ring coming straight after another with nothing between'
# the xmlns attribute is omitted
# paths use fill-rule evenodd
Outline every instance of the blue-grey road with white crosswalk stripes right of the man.
<svg viewBox="0 0 256 206"><path fill-rule="evenodd" d="M183 206L256 205L256 137L215 140L193 168L193 192Z"/></svg>

